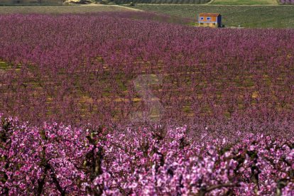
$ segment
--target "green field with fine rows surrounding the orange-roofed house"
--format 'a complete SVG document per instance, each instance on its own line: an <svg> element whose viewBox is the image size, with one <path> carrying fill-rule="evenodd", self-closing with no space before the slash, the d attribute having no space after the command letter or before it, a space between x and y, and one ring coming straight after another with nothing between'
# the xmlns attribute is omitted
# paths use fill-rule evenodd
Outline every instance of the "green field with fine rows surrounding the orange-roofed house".
<svg viewBox="0 0 294 196"><path fill-rule="evenodd" d="M210 5L147 5L138 4L136 9L155 11L191 18L196 22L198 13L222 14L225 26L250 28L294 28L294 6L210 6Z"/></svg>

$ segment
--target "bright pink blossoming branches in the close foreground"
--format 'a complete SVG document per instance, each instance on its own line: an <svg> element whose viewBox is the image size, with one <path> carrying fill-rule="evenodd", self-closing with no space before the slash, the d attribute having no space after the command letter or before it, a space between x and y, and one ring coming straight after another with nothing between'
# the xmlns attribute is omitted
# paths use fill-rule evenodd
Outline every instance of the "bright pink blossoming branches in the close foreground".
<svg viewBox="0 0 294 196"><path fill-rule="evenodd" d="M197 142L187 126L29 126L1 117L1 195L293 195L294 142Z"/></svg>

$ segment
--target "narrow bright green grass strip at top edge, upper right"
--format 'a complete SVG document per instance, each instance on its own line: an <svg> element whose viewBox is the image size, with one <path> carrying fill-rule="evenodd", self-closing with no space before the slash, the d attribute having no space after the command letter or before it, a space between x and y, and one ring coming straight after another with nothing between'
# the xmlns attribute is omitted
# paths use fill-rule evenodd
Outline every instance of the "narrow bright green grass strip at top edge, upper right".
<svg viewBox="0 0 294 196"><path fill-rule="evenodd" d="M214 0L217 5L277 5L276 0Z"/></svg>

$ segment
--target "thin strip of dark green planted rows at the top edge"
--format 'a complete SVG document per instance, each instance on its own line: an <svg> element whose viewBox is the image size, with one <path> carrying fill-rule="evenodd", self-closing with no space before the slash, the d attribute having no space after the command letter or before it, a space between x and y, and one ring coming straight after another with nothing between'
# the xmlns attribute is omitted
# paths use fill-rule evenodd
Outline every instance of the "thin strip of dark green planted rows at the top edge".
<svg viewBox="0 0 294 196"><path fill-rule="evenodd" d="M116 4L207 4L210 0L114 0Z"/></svg>

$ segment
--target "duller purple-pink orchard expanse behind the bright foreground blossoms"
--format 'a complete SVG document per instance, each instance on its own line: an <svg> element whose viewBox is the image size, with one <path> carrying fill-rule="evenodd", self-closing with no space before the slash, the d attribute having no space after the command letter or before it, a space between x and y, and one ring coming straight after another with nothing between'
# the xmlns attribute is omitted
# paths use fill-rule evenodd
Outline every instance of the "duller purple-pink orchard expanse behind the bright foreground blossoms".
<svg viewBox="0 0 294 196"><path fill-rule="evenodd" d="M215 30L112 14L0 16L1 111L72 125L129 122L153 102L164 108L157 119L184 123L293 113L293 30ZM146 92L134 84L140 77L150 77Z"/></svg>

